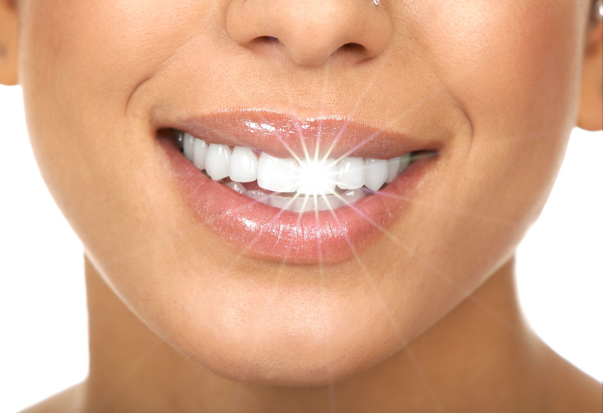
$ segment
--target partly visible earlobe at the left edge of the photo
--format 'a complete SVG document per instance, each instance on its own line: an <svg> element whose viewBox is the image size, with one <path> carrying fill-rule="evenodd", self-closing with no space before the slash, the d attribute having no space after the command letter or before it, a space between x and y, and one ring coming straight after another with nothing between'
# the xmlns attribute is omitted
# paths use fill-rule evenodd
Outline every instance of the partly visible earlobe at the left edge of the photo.
<svg viewBox="0 0 603 413"><path fill-rule="evenodd" d="M0 0L0 84L17 83L17 10L12 0Z"/></svg>

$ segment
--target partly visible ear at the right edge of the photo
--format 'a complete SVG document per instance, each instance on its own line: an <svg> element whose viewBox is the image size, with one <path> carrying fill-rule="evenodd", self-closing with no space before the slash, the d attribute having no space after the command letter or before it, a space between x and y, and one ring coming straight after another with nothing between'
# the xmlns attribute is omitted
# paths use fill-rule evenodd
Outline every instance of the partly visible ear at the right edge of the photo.
<svg viewBox="0 0 603 413"><path fill-rule="evenodd" d="M590 30L582 68L582 92L578 126L603 129L603 22Z"/></svg>

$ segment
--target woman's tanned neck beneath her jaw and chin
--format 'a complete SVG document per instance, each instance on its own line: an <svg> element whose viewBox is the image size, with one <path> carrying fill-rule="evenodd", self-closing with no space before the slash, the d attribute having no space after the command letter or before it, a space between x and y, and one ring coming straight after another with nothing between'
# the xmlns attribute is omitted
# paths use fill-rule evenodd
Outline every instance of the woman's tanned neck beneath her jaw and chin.
<svg viewBox="0 0 603 413"><path fill-rule="evenodd" d="M537 400L529 383L540 341L519 310L512 260L398 353L344 382L313 388L216 376L142 324L87 259L86 285L87 412L508 412L528 411Z"/></svg>

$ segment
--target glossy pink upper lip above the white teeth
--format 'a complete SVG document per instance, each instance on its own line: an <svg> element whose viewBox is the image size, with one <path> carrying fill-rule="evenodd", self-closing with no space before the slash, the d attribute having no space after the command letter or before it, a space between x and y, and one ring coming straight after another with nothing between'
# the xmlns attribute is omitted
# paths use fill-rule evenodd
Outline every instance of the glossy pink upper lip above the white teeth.
<svg viewBox="0 0 603 413"><path fill-rule="evenodd" d="M438 142L343 117L299 118L273 110L229 109L162 124L208 143L245 146L279 158L314 156L389 159Z"/></svg>

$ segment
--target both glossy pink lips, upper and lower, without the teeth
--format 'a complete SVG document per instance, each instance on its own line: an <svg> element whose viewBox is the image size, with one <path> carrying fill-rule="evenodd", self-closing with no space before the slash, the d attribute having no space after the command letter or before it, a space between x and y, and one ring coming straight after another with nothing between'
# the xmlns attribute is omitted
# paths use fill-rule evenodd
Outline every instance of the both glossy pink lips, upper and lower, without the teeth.
<svg viewBox="0 0 603 413"><path fill-rule="evenodd" d="M259 117L265 126L258 123ZM175 122L169 127L185 130L208 142L250 146L275 156L291 156L283 146L283 136L289 149L295 153L301 149L303 154L299 125L306 125L301 127L304 131L309 130L303 135L307 150L315 149L320 133L326 144L335 142L338 146L335 155L352 152L355 156L388 159L433 147L425 142L420 145L403 135L379 135L378 130L351 120L298 121L263 111L221 112L200 120ZM347 132L341 132L344 127ZM277 132L280 136L275 136ZM367 139L367 132L371 132L373 138ZM418 159L383 190L346 207L298 214L270 207L212 181L180 153L171 139L160 135L160 142L169 155L176 184L201 222L249 255L288 263L337 263L361 252L400 216L434 163L433 158Z"/></svg>

